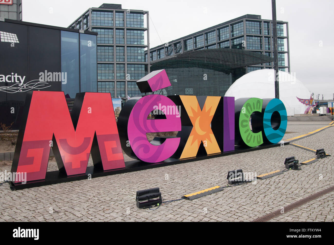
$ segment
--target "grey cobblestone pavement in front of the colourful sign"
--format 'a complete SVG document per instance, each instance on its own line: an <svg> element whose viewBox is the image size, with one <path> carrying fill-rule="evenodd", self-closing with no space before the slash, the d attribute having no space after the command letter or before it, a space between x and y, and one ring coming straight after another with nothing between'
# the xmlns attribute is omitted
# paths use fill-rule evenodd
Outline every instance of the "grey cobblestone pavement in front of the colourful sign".
<svg viewBox="0 0 334 245"><path fill-rule="evenodd" d="M288 122L287 131L295 133L287 133L284 139L328 124L314 123ZM330 127L295 143L312 149L325 148L326 153L334 155L333 134L334 127ZM315 154L284 145L18 191L11 191L6 183L0 186L0 221L252 221L332 186L333 157L302 166L300 171L290 170L256 183L225 188L193 201L175 201L157 210L138 209L135 195L137 190L160 187L164 200L178 199L226 185L229 170L241 168L256 172L255 175L283 170L284 160L290 156L304 161ZM53 160L48 171L56 169ZM10 171L10 166L0 165L0 172L5 170ZM271 221L334 221L333 199L333 192L325 194Z"/></svg>

